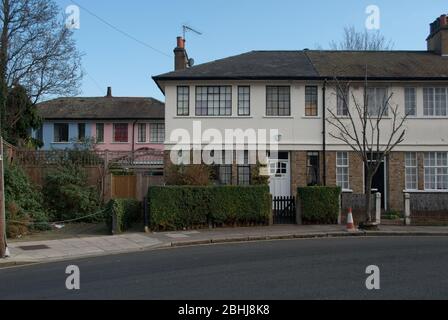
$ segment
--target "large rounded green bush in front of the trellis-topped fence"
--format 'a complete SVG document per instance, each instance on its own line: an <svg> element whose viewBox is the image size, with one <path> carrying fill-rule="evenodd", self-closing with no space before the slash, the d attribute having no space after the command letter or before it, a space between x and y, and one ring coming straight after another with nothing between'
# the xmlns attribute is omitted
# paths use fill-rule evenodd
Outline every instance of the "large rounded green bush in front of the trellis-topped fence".
<svg viewBox="0 0 448 320"><path fill-rule="evenodd" d="M44 199L54 220L79 219L100 210L96 188L87 183L87 175L77 164L66 162L51 170L45 178ZM83 219L98 222L101 217Z"/></svg>

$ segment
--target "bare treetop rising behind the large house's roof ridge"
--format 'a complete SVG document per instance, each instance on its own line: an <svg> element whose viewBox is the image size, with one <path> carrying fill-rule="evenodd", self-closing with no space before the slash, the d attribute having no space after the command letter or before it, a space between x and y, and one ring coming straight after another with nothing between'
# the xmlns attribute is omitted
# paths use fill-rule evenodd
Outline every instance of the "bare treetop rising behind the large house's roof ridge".
<svg viewBox="0 0 448 320"><path fill-rule="evenodd" d="M379 31L357 31L354 26L344 28L341 41L330 43L332 50L388 51L392 50L393 46L392 41L387 40Z"/></svg>

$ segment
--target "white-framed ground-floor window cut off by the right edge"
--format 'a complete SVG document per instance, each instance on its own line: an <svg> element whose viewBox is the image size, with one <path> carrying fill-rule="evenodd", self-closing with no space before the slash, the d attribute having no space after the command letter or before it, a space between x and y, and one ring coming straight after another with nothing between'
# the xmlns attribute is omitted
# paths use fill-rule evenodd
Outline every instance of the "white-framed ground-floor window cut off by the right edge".
<svg viewBox="0 0 448 320"><path fill-rule="evenodd" d="M446 152L425 153L425 190L448 190Z"/></svg>

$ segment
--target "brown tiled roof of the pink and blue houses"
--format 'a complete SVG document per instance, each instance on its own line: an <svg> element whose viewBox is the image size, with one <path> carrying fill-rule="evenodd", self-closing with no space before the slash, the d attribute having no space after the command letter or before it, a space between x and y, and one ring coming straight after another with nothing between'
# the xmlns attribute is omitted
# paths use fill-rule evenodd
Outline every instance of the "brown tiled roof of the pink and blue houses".
<svg viewBox="0 0 448 320"><path fill-rule="evenodd" d="M58 98L38 104L44 119L164 119L165 105L154 98Z"/></svg>

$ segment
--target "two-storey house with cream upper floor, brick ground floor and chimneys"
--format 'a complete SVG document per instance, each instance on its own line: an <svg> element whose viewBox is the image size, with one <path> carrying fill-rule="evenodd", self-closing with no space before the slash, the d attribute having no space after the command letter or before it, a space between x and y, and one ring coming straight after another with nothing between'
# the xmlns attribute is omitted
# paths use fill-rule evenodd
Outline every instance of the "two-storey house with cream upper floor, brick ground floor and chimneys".
<svg viewBox="0 0 448 320"><path fill-rule="evenodd" d="M405 191L448 193L448 16L431 24L427 45L427 51L252 51L190 66L178 38L175 71L153 78L166 97L166 165L178 145L172 133L193 135L194 122L203 131L276 128L280 152L269 159L274 196L315 184L364 193L362 161L331 138L325 123L328 108L346 116L332 79L350 81L349 96L362 99L367 68L372 105L393 93L391 104L409 114L406 140L374 178L384 209L402 210ZM249 165L218 167L220 183L250 183Z"/></svg>

